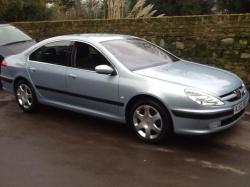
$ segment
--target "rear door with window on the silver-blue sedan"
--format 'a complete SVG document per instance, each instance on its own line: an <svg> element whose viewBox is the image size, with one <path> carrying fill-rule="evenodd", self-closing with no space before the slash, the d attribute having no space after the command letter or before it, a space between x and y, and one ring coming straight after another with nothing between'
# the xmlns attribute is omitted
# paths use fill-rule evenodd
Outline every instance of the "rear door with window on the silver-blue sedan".
<svg viewBox="0 0 250 187"><path fill-rule="evenodd" d="M64 102L66 69L71 49L71 41L58 41L49 43L30 55L28 72L42 99Z"/></svg>

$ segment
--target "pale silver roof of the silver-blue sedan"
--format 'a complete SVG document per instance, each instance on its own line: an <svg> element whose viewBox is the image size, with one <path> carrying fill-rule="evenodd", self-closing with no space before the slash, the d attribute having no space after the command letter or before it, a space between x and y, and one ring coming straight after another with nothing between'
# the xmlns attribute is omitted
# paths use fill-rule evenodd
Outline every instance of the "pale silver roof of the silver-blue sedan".
<svg viewBox="0 0 250 187"><path fill-rule="evenodd" d="M122 34L102 34L102 33L90 33L90 34L72 34L72 35L64 35L64 36L57 36L51 39L56 40L88 40L94 42L104 42L110 40L121 40L121 39L132 39L136 38L135 36L130 35L122 35Z"/></svg>

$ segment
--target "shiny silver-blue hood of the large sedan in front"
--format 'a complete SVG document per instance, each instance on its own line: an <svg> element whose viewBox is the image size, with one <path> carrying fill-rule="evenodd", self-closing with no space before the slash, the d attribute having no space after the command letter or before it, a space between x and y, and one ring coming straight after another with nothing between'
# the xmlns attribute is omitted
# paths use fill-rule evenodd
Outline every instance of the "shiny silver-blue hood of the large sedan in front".
<svg viewBox="0 0 250 187"><path fill-rule="evenodd" d="M211 92L217 96L227 94L242 84L240 78L233 73L188 61L178 61L134 72L150 78Z"/></svg>

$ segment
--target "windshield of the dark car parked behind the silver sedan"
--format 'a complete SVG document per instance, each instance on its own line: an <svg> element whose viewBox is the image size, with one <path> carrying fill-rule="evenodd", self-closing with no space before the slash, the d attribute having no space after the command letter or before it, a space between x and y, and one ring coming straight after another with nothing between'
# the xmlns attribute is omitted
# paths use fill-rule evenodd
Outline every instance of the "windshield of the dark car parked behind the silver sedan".
<svg viewBox="0 0 250 187"><path fill-rule="evenodd" d="M11 25L0 26L0 46L32 40L28 35Z"/></svg>

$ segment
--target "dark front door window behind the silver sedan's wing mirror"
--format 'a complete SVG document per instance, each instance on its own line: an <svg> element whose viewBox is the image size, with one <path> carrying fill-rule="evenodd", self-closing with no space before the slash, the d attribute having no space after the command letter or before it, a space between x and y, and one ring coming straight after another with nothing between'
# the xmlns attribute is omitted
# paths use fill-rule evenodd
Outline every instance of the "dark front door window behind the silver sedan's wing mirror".
<svg viewBox="0 0 250 187"><path fill-rule="evenodd" d="M94 71L98 65L109 65L107 59L94 47L81 43L75 43L75 67Z"/></svg>

